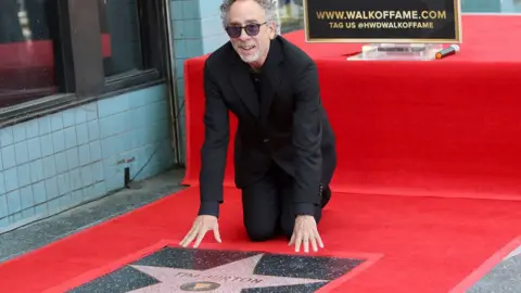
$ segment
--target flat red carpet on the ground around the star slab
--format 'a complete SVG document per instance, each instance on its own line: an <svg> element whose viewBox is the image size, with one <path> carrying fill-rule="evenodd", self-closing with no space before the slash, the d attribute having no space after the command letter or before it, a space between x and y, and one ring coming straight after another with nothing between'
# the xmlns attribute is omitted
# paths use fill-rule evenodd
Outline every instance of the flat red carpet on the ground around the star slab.
<svg viewBox="0 0 521 293"><path fill-rule="evenodd" d="M161 240L181 239L196 212L196 193L190 188L0 266L0 292L79 284ZM237 195L227 190L224 243L202 247L290 252L283 240L247 242ZM320 224L321 254L381 255L335 292L447 292L520 234L520 220L521 202L342 194Z"/></svg>

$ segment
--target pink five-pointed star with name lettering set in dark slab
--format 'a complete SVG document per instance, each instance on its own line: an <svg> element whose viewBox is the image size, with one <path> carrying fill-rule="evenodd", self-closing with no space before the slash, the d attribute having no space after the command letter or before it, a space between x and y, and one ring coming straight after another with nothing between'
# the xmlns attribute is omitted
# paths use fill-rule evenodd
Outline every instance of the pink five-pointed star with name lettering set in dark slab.
<svg viewBox="0 0 521 293"><path fill-rule="evenodd" d="M257 254L249 258L207 270L131 265L135 269L138 269L160 281L160 283L134 290L131 292L211 291L215 293L239 293L242 289L312 284L329 281L255 275L253 271L262 257L263 254Z"/></svg>

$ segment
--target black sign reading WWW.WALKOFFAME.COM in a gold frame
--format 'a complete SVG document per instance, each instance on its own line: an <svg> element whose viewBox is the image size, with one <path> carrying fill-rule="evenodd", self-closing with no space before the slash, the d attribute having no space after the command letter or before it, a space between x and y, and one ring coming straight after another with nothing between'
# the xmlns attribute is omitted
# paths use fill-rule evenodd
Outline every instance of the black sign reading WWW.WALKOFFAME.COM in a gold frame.
<svg viewBox="0 0 521 293"><path fill-rule="evenodd" d="M307 41L460 42L459 0L304 0Z"/></svg>

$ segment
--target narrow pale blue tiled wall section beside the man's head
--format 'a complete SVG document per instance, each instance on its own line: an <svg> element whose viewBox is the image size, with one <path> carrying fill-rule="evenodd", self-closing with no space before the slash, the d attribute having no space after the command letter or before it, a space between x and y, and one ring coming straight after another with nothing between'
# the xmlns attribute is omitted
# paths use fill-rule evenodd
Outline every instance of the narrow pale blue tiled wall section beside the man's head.
<svg viewBox="0 0 521 293"><path fill-rule="evenodd" d="M170 2L177 97L185 100L183 64L187 59L211 53L228 41L220 20L220 0L173 0ZM185 144L185 112L180 113ZM183 150L182 150L183 151Z"/></svg>

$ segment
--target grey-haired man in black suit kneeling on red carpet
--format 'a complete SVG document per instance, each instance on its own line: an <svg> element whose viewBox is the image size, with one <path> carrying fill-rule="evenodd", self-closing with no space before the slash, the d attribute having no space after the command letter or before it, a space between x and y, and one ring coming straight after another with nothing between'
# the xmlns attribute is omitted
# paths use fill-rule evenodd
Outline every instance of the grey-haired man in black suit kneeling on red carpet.
<svg viewBox="0 0 521 293"><path fill-rule="evenodd" d="M201 150L201 206L180 242L198 247L218 231L229 142L229 116L238 118L236 184L252 241L279 234L308 252L323 247L317 222L336 165L334 135L320 103L315 62L276 34L274 0L224 0L230 41L204 66L205 140Z"/></svg>

